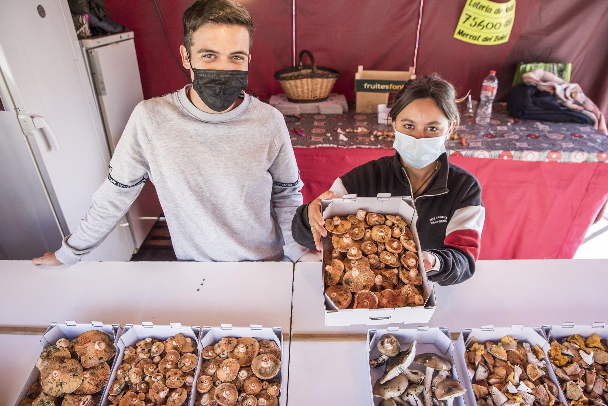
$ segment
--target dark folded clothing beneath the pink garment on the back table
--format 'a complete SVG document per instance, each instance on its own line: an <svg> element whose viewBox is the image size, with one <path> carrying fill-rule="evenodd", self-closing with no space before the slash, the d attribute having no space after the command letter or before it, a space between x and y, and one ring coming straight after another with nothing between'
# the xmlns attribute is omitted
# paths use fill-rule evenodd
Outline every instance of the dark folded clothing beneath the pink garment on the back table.
<svg viewBox="0 0 608 406"><path fill-rule="evenodd" d="M549 92L525 83L516 84L510 89L506 96L506 108L517 119L593 125L593 120L587 115L560 105Z"/></svg>

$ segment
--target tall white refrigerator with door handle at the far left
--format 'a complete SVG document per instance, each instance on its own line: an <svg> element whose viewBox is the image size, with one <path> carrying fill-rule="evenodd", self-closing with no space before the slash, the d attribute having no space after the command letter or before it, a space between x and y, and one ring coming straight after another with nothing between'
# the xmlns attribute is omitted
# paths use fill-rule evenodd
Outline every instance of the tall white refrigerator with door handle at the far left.
<svg viewBox="0 0 608 406"><path fill-rule="evenodd" d="M0 260L57 250L108 176L87 65L65 0L0 0ZM133 235L125 216L85 260L130 260Z"/></svg>

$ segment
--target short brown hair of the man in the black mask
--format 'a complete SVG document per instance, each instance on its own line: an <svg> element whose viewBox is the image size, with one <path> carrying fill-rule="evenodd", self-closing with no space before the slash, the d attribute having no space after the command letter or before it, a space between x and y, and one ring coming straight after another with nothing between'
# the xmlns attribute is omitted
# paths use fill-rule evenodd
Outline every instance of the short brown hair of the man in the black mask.
<svg viewBox="0 0 608 406"><path fill-rule="evenodd" d="M254 41L254 22L245 7L232 0L196 0L182 16L184 46L191 52L192 33L206 22L242 26L249 32L249 50Z"/></svg>

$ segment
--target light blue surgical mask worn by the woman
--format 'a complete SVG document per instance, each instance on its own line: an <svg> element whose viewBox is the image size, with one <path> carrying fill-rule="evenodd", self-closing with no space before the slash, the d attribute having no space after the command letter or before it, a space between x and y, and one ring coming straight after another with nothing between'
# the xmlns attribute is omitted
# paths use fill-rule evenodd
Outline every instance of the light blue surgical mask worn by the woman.
<svg viewBox="0 0 608 406"><path fill-rule="evenodd" d="M420 169L430 165L446 152L446 135L415 138L395 130L393 148L407 165Z"/></svg>

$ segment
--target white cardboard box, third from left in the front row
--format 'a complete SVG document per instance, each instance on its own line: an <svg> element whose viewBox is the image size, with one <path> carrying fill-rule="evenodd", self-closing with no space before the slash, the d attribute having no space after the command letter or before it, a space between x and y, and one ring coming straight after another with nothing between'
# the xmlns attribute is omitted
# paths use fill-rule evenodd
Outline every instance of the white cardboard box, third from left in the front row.
<svg viewBox="0 0 608 406"><path fill-rule="evenodd" d="M283 377L286 376L287 371L283 370L283 367L286 365L286 360L283 358L285 353L283 352L283 332L281 331L281 328L262 327L261 325L250 325L249 327L233 327L229 324L223 324L219 327L203 327L201 329L201 341L199 345L202 349L206 346L214 345L216 342L218 342L220 339L223 339L224 337L235 337L237 339L240 337L254 337L254 339L256 340L269 339L277 343L278 348L281 349L281 370L278 371L277 376L275 376L273 379L278 378L280 380L281 390L278 396L278 404L279 406L282 406L282 395L284 391L287 391L287 386L285 385ZM200 372L201 368L197 368L196 374L194 376L195 384ZM196 391L196 388L194 388L194 391ZM193 399L195 399L195 397L193 397ZM193 403L191 403L190 405L192 406Z"/></svg>

